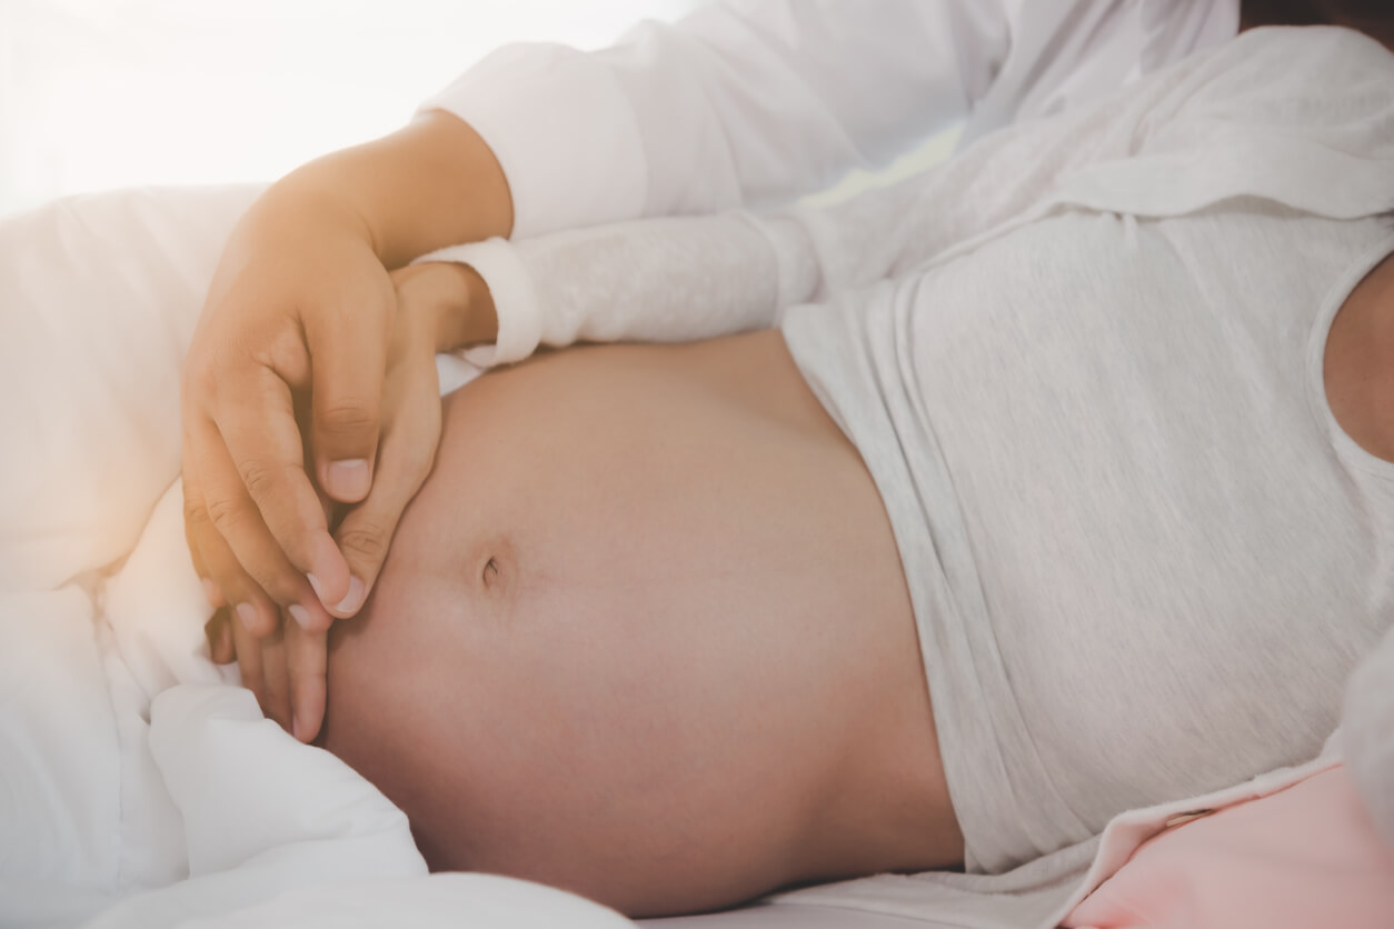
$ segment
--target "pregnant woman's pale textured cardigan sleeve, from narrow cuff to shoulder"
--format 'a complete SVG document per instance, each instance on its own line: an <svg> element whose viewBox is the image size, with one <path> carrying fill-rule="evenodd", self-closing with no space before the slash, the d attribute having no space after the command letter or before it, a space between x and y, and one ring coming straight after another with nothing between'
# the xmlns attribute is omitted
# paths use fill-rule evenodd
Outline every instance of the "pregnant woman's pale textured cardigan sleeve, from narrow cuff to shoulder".
<svg viewBox="0 0 1394 929"><path fill-rule="evenodd" d="M539 343L686 341L769 326L788 306L948 260L1052 209L1175 216L1260 196L1368 216L1388 201L1391 79L1394 60L1355 33L1263 31L831 209L634 220L420 260L481 273L499 341L471 361L502 364Z"/></svg>

